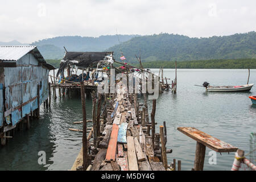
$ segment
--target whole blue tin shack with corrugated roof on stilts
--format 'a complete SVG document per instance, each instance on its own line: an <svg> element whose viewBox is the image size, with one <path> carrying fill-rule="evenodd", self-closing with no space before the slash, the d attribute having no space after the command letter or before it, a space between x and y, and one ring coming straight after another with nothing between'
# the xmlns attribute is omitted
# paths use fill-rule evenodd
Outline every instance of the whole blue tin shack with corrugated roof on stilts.
<svg viewBox="0 0 256 182"><path fill-rule="evenodd" d="M36 46L0 46L0 138L6 144L19 122L39 117L49 94L49 70ZM28 120L28 121L27 121Z"/></svg>

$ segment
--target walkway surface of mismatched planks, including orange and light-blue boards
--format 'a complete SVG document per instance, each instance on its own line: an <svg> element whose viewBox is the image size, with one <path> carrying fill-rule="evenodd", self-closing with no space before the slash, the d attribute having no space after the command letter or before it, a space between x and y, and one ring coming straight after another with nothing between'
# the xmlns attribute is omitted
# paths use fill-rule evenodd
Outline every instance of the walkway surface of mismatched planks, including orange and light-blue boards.
<svg viewBox="0 0 256 182"><path fill-rule="evenodd" d="M90 170L165 171L163 163L154 154L152 138L146 135L137 108L131 103L134 94L127 94L127 88L122 88L121 83L119 85L120 93L107 106L108 119L101 125L104 130ZM82 151L71 170L76 170L81 164Z"/></svg>

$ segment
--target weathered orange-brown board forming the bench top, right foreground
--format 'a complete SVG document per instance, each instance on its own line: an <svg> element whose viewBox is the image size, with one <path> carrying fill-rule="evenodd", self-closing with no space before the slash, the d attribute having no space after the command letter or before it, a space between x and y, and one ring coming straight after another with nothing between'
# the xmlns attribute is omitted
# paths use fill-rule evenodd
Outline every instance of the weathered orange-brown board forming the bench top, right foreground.
<svg viewBox="0 0 256 182"><path fill-rule="evenodd" d="M177 130L216 152L237 151L237 147L214 138L203 131L197 130L195 127L178 127Z"/></svg>

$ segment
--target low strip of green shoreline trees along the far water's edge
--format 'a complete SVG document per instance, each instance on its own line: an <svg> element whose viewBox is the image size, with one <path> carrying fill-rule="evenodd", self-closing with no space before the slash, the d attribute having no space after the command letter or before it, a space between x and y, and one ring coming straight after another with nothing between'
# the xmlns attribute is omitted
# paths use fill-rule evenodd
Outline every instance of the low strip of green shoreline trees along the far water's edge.
<svg viewBox="0 0 256 182"><path fill-rule="evenodd" d="M59 68L60 60L47 59L47 63ZM144 68L175 68L175 61L142 62ZM139 67L139 64L130 64ZM256 59L214 59L177 61L179 69L256 69Z"/></svg>

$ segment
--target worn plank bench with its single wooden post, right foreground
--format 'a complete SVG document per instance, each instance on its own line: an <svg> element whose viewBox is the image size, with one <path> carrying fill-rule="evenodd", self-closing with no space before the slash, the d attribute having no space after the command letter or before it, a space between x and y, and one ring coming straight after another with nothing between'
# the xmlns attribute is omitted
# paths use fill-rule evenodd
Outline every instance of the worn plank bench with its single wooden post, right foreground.
<svg viewBox="0 0 256 182"><path fill-rule="evenodd" d="M194 163L195 171L203 171L205 146L216 152L236 152L238 149L237 147L212 137L203 131L197 130L195 127L178 127L177 130L196 140L196 154Z"/></svg>

